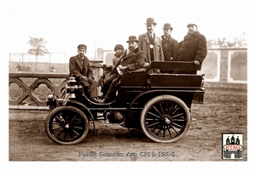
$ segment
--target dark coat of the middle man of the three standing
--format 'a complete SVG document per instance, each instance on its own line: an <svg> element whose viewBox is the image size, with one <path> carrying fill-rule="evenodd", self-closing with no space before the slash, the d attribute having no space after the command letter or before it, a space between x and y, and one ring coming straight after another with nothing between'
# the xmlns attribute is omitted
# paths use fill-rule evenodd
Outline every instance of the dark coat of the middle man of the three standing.
<svg viewBox="0 0 256 170"><path fill-rule="evenodd" d="M162 36L162 48L165 61L176 61L179 44L176 39L169 35L168 37Z"/></svg>

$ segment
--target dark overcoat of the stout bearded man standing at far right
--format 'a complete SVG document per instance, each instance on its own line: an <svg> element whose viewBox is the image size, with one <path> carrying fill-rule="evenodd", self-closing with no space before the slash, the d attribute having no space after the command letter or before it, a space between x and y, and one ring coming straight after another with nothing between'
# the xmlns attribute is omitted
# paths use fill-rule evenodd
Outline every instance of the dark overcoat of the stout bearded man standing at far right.
<svg viewBox="0 0 256 170"><path fill-rule="evenodd" d="M178 61L194 61L200 63L207 57L207 39L199 31L186 35L180 42Z"/></svg>

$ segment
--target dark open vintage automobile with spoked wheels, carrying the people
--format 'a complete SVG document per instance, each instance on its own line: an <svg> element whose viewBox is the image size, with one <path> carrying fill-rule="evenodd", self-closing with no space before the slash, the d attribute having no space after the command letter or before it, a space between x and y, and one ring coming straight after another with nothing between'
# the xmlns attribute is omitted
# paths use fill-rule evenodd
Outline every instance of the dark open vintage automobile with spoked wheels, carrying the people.
<svg viewBox="0 0 256 170"><path fill-rule="evenodd" d="M95 103L70 77L61 97L49 95L45 130L57 144L78 144L93 123L108 119L127 128L141 128L154 142L182 139L191 122L192 103L202 104L204 75L152 73L151 70L200 71L193 62L152 61L147 68L125 72L110 103Z"/></svg>

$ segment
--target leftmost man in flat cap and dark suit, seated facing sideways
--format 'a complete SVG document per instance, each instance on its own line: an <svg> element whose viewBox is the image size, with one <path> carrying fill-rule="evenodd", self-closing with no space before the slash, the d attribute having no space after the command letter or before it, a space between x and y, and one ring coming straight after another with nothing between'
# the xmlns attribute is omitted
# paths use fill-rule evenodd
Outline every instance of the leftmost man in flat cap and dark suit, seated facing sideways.
<svg viewBox="0 0 256 170"><path fill-rule="evenodd" d="M90 61L85 56L86 50L86 45L79 44L79 54L69 59L69 76L76 77L77 83L84 86L84 93L90 94L90 99L98 103L96 81L90 68Z"/></svg>

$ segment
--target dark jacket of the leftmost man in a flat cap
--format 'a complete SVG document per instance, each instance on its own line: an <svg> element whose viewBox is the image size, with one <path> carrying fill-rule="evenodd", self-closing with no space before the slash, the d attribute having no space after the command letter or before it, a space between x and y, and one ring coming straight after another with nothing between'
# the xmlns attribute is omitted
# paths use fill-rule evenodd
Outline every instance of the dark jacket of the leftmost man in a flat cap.
<svg viewBox="0 0 256 170"><path fill-rule="evenodd" d="M83 64L81 63L79 54L69 59L69 77L72 76L76 77L76 81L78 83L83 82L84 86L90 85L89 82L82 79L82 76L93 78L93 71L90 68L90 61L86 56L84 56Z"/></svg>

